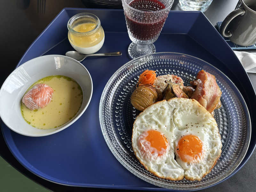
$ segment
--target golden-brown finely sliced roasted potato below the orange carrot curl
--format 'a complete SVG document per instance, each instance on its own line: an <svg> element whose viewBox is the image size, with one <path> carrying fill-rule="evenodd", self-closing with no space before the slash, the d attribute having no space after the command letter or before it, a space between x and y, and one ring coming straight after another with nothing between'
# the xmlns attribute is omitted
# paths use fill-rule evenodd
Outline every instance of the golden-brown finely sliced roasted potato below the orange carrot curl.
<svg viewBox="0 0 256 192"><path fill-rule="evenodd" d="M131 96L132 106L143 111L156 102L157 92L151 84L139 85Z"/></svg>

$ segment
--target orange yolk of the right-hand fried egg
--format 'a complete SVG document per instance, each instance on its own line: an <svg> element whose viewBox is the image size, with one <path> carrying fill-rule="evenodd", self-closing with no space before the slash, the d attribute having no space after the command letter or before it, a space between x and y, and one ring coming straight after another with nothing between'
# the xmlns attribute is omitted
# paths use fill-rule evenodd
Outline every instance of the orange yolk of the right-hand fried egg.
<svg viewBox="0 0 256 192"><path fill-rule="evenodd" d="M193 162L201 154L203 150L202 141L195 135L183 136L176 146L176 152L183 162Z"/></svg>

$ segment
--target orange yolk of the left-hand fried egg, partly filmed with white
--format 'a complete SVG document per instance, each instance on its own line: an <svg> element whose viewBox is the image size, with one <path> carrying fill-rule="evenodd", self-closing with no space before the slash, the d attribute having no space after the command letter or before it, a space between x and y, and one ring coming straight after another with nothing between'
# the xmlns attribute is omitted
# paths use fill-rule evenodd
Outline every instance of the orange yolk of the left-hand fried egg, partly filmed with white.
<svg viewBox="0 0 256 192"><path fill-rule="evenodd" d="M169 145L164 134L156 130L149 130L146 133L147 136L141 138L140 141L140 144L143 145L143 149L151 152L151 154L155 153L156 149L158 156L163 155L164 152L166 152L167 146ZM143 140L147 142L143 142Z"/></svg>

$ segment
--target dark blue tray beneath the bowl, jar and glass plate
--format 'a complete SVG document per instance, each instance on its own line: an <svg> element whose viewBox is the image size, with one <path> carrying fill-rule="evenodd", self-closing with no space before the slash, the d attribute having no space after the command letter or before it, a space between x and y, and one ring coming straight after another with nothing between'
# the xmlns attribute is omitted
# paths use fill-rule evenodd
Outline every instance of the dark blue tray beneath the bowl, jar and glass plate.
<svg viewBox="0 0 256 192"><path fill-rule="evenodd" d="M100 18L105 43L99 52L122 51L123 55L89 57L82 62L92 76L94 90L88 108L76 123L56 134L35 138L17 134L1 121L5 141L24 167L52 182L83 187L170 191L149 184L126 170L109 150L100 129L101 93L112 74L131 60L127 52L131 41L123 10L63 9L31 44L17 66L41 55L64 55L72 50L67 39L67 22L81 12L91 12ZM256 110L253 110L256 95L252 84L233 51L202 12L171 11L155 46L157 52L193 55L219 68L242 93L252 127L256 126ZM233 174L251 156L255 143L256 130L252 129L248 152Z"/></svg>

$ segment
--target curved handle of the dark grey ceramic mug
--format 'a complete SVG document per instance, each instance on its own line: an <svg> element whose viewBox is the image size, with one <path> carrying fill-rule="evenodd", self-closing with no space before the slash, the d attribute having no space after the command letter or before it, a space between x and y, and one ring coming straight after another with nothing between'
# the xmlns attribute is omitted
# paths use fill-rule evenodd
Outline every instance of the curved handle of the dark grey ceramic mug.
<svg viewBox="0 0 256 192"><path fill-rule="evenodd" d="M238 15L244 15L245 10L243 8L236 9L228 14L228 16L224 19L220 26L220 33L224 37L231 37L232 33L230 31L226 32L226 28L228 27L228 24Z"/></svg>

